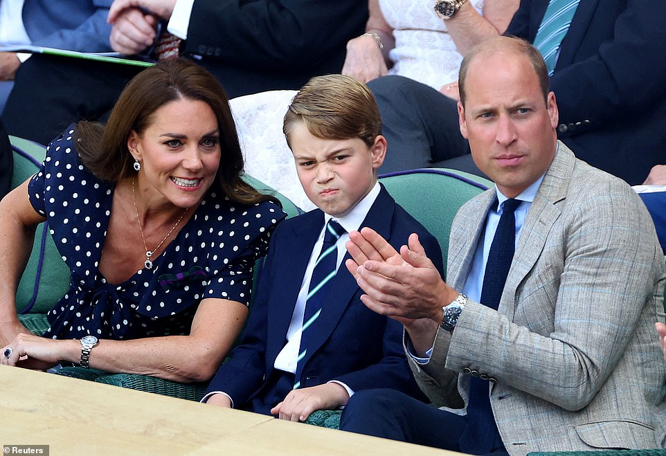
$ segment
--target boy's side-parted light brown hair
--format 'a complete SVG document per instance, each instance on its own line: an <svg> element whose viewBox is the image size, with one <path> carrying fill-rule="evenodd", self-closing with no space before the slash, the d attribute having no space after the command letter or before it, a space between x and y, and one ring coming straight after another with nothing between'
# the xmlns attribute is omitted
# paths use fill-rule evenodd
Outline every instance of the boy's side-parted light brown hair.
<svg viewBox="0 0 666 456"><path fill-rule="evenodd" d="M313 77L296 93L282 127L287 144L291 125L297 120L303 121L312 136L322 139L360 138L372 146L381 134L375 96L366 84L344 75Z"/></svg>

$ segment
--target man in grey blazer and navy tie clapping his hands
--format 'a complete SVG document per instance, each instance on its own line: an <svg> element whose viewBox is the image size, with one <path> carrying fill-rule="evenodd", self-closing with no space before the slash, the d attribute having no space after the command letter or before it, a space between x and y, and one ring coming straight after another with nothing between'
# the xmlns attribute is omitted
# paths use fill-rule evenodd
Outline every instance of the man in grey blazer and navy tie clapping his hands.
<svg viewBox="0 0 666 456"><path fill-rule="evenodd" d="M403 323L415 377L445 410L359 392L341 429L474 454L660 446L665 265L645 206L557 140L555 95L530 44L480 44L460 94L460 130L495 188L453 221L447 281L415 235L397 253L371 230L350 233L347 263L363 303ZM500 268L491 244L510 199L515 253L493 309L484 277Z"/></svg>

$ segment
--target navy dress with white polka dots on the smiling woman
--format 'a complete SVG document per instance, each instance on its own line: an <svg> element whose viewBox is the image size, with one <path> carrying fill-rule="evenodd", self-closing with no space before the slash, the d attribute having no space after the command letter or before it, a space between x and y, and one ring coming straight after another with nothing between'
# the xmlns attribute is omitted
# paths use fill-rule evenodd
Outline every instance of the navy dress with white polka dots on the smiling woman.
<svg viewBox="0 0 666 456"><path fill-rule="evenodd" d="M71 270L69 291L47 314L51 327L45 337L92 334L121 340L189 334L202 299L249 304L254 262L266 254L273 228L285 217L279 206L242 206L211 190L154 259L152 270L110 284L98 265L114 183L100 181L83 167L72 134L70 128L48 145L42 168L28 186L30 203L46 217Z"/></svg>

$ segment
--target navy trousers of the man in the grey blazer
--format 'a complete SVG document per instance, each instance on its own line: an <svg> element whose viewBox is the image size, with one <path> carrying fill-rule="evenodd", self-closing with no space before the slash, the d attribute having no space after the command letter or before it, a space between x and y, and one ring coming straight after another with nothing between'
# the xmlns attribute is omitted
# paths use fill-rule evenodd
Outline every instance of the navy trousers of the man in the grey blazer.
<svg viewBox="0 0 666 456"><path fill-rule="evenodd" d="M355 392L345 405L340 429L475 454L473 448L460 448L458 443L467 422L465 416L440 410L396 390L363 390ZM489 439L493 449L486 454L508 455L499 435Z"/></svg>

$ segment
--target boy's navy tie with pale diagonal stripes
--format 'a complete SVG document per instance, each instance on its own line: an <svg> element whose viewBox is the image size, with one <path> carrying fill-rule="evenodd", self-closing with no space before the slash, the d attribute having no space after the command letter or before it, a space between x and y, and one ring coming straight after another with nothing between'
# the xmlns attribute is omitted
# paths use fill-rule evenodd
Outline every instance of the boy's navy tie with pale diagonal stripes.
<svg viewBox="0 0 666 456"><path fill-rule="evenodd" d="M300 334L300 349L298 349L298 361L296 363L296 383L294 390L300 387L300 373L303 371L303 358L307 353L309 335L312 331L308 328L319 318L321 306L327 294L327 284L335 277L337 270L338 246L337 241L345 232L336 221L329 221L324 232L324 243L321 246L321 253L314 264L310 285L305 299L305 314L303 315L303 328Z"/></svg>

